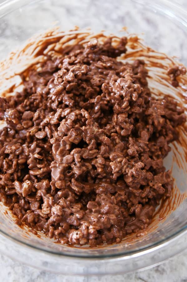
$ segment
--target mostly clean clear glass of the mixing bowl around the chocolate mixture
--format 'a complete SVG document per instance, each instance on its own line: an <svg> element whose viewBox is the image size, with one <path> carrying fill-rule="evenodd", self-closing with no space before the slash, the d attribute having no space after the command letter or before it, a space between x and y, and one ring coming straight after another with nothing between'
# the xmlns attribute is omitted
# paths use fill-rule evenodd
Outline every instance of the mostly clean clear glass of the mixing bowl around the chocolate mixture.
<svg viewBox="0 0 187 282"><path fill-rule="evenodd" d="M61 30L74 26L94 32L117 34L126 26L141 34L145 44L159 52L178 56L187 65L187 12L170 1L157 0L8 0L0 5L0 59L38 32L57 22ZM185 91L185 90L184 90ZM156 265L187 247L186 160L184 148L174 144L165 159L172 168L177 192L174 207L165 221L144 236L98 248L72 247L54 243L42 233L35 236L14 223L0 204L0 251L31 266L63 274L121 274ZM173 162L180 159L183 165ZM181 193L181 194L180 194ZM182 196L181 196L182 195ZM181 202L181 204L175 205ZM175 207L176 206L176 207ZM166 211L167 213L167 211Z"/></svg>

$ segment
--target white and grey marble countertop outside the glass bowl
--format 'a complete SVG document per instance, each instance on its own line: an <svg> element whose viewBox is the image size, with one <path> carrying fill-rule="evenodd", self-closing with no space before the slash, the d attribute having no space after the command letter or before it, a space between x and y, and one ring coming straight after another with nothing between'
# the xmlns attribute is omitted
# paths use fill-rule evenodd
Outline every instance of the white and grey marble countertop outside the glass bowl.
<svg viewBox="0 0 187 282"><path fill-rule="evenodd" d="M0 0L0 3L3 2ZM187 0L178 0L184 7L187 7ZM93 3L92 3L93 4ZM184 50L185 46L181 46ZM187 251L183 254L167 260L159 266L151 269L143 270L137 273L118 275L118 276L90 276L90 277L74 277L64 276L60 274L52 274L38 269L25 266L13 261L8 257L0 254L0 281L3 282L43 282L43 281L134 281L134 282L148 282L148 281L163 281L163 282L185 282L187 281Z"/></svg>

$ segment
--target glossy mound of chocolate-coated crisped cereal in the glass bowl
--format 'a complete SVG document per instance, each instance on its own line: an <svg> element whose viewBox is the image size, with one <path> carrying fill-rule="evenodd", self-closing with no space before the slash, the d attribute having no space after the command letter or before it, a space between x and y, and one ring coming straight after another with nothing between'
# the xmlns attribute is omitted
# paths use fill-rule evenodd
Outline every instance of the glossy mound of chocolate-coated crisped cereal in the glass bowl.
<svg viewBox="0 0 187 282"><path fill-rule="evenodd" d="M17 223L61 243L119 243L171 195L163 158L184 110L151 97L143 61L116 59L126 38L111 43L49 56L0 101L0 199Z"/></svg>

